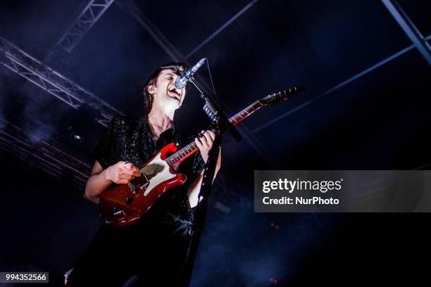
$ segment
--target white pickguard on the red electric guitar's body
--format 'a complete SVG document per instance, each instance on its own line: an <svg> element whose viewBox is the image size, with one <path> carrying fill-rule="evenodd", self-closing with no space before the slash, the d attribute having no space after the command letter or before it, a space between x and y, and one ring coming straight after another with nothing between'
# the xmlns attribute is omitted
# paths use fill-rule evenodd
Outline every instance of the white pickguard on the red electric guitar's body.
<svg viewBox="0 0 431 287"><path fill-rule="evenodd" d="M139 172L145 174L146 177L149 178L149 186L146 187L144 196L147 196L158 184L175 177L175 174L170 173L169 165L161 159L161 153L158 153L158 155L156 155L148 165L142 167Z"/></svg>

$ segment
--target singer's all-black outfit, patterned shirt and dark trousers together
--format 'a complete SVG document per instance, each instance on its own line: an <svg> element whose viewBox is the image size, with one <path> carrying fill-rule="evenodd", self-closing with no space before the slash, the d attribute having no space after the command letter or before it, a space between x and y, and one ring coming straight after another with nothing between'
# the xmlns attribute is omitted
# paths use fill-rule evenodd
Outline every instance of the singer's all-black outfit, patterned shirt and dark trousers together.
<svg viewBox="0 0 431 287"><path fill-rule="evenodd" d="M182 148L191 141L194 136L175 127L155 141L146 117L114 117L94 160L104 169L121 160L140 167L165 145L177 143ZM102 224L69 275L72 286L123 286L135 274L142 286L177 286L192 228L187 192L203 166L200 153L182 162L177 172L187 175L185 184L163 193L134 224L124 228Z"/></svg>

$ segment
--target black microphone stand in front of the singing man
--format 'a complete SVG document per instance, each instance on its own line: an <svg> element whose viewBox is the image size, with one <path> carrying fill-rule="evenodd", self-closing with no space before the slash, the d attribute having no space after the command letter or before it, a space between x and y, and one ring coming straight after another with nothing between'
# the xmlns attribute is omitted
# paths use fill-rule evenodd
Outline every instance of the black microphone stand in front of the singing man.
<svg viewBox="0 0 431 287"><path fill-rule="evenodd" d="M194 262L196 260L197 250L199 248L199 241L201 238L202 231L204 230L204 224L206 219L206 213L208 210L208 198L211 196L211 187L213 186L213 178L215 174L215 166L217 165L218 153L220 151L223 134L229 130L232 136L237 141L241 141L242 137L237 129L229 122L227 116L223 113L220 106L215 105L211 98L204 94L201 89L196 85L193 78L189 79L194 87L201 93L201 98L204 98L206 105L211 108L212 116L211 120L215 125L213 129L215 132L215 139L213 146L208 153L208 161L204 167L204 179L202 180L201 191L199 192L198 205L194 212L194 222L192 227L192 236L189 241L189 247L187 250L186 262L183 265L182 272L182 286L189 286L190 280L192 279L192 272Z"/></svg>

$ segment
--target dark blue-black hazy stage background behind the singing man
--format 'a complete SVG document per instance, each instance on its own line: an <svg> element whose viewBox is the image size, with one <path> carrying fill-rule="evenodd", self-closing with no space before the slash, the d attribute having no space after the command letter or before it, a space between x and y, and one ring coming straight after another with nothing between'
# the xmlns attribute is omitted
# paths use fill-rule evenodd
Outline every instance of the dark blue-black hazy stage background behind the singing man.
<svg viewBox="0 0 431 287"><path fill-rule="evenodd" d="M430 65L414 47L394 56L412 42L381 1L133 2L177 55L210 60L229 115L275 91L306 87L242 122L241 143L225 137L192 286L429 281L427 214L255 214L252 205L254 170L430 168ZM0 37L43 60L86 3L1 1ZM144 82L173 58L122 3L115 0L73 51L46 65L139 115ZM430 36L430 2L399 4ZM199 75L208 82L206 69ZM82 160L89 174L106 129L94 109L73 109L3 65L0 95L0 271L50 272L51 286L60 286L99 217L75 172L46 167L46 148ZM180 129L208 125L201 106L189 87ZM25 151L6 136L15 127Z"/></svg>

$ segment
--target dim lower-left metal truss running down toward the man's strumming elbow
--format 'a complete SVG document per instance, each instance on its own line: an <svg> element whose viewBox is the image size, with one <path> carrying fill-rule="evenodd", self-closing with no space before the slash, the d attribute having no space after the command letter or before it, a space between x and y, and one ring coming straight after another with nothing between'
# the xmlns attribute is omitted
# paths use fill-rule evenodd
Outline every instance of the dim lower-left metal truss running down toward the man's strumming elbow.
<svg viewBox="0 0 431 287"><path fill-rule="evenodd" d="M0 148L38 167L54 177L68 179L83 191L92 167L62 148L54 140L46 139L40 129L18 127L0 117Z"/></svg>

